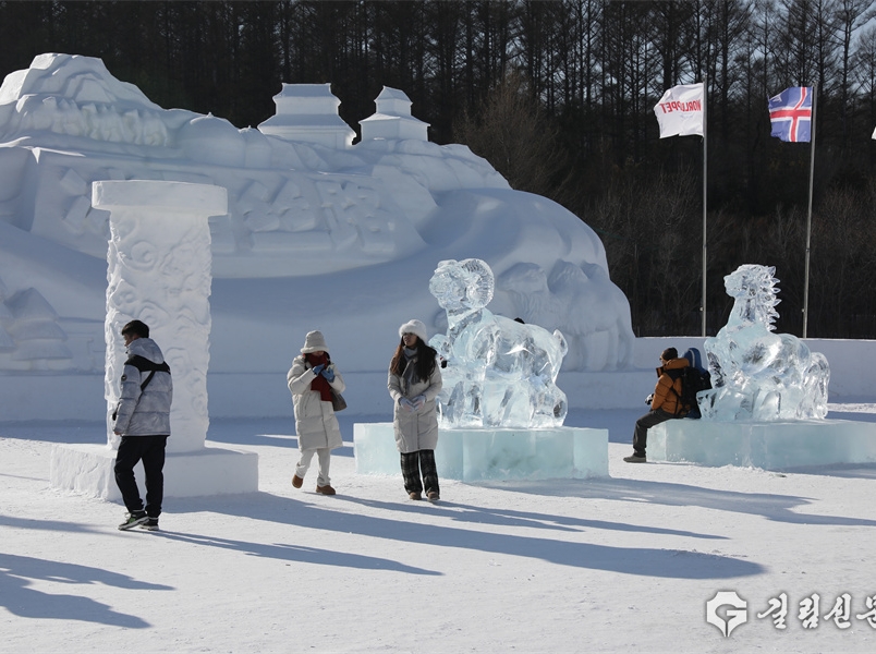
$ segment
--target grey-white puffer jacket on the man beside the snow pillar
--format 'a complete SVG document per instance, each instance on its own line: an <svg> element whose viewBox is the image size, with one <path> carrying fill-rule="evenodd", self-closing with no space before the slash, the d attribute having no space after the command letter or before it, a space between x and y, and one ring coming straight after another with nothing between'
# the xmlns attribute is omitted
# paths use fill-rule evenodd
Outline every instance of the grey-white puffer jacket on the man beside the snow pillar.
<svg viewBox="0 0 876 654"><path fill-rule="evenodd" d="M153 363L163 363L161 349L150 338L137 338L127 346L129 358L139 355ZM125 365L122 373L122 395L115 409L113 429L122 436L170 436L170 403L173 382L170 373L156 372L146 389L141 386L151 371L141 372Z"/></svg>

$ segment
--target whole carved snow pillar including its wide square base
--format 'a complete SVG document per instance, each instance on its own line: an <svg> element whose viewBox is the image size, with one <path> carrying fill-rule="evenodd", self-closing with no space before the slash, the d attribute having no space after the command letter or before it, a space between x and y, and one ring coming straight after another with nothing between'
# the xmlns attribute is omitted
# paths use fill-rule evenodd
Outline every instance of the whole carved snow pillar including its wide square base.
<svg viewBox="0 0 876 654"><path fill-rule="evenodd" d="M210 336L209 216L227 211L220 186L162 181L101 181L92 202L110 211L107 271L107 419L120 393L125 323L149 326L173 375L165 496L193 497L258 491L258 456L206 447L207 366ZM110 424L111 427L111 424ZM121 499L114 463L119 438L108 446L57 445L49 479L56 488ZM143 486L143 471L134 469Z"/></svg>

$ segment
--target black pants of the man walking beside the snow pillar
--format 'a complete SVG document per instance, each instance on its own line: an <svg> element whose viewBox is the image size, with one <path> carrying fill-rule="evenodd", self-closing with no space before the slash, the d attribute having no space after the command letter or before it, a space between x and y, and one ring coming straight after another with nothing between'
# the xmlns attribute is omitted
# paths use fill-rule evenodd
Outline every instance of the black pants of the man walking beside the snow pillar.
<svg viewBox="0 0 876 654"><path fill-rule="evenodd" d="M165 498L165 447L167 436L122 436L115 453L115 484L122 492L122 500L129 512L142 511L134 465L143 461L146 473L146 513L149 518L161 514L161 500Z"/></svg>

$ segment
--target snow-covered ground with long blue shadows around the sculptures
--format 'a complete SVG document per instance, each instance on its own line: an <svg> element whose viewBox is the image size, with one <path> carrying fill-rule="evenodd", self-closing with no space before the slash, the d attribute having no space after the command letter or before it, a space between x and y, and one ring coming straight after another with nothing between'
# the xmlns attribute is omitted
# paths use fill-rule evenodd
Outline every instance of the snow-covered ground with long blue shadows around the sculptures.
<svg viewBox="0 0 876 654"><path fill-rule="evenodd" d="M292 488L291 415L214 420L210 443L258 452L259 492L169 498L157 533L49 485L52 444L104 443L102 423L2 423L0 651L874 651L876 464L626 464L638 413L567 421L609 429L610 477L445 481L437 505L355 473L353 422L388 415L341 414L336 497ZM719 591L747 602L728 638L706 621ZM757 617L782 593L784 630ZM824 617L844 593L848 628Z"/></svg>

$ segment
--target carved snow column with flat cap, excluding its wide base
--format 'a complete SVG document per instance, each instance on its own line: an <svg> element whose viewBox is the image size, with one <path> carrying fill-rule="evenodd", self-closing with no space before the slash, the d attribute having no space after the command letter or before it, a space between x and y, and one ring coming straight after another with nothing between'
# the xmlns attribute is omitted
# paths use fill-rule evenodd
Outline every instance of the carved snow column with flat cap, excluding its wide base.
<svg viewBox="0 0 876 654"><path fill-rule="evenodd" d="M209 426L210 230L207 218L228 210L226 189L163 181L94 182L92 204L110 211L107 261L107 434L126 359L121 329L149 326L173 376L168 452L204 448Z"/></svg>

